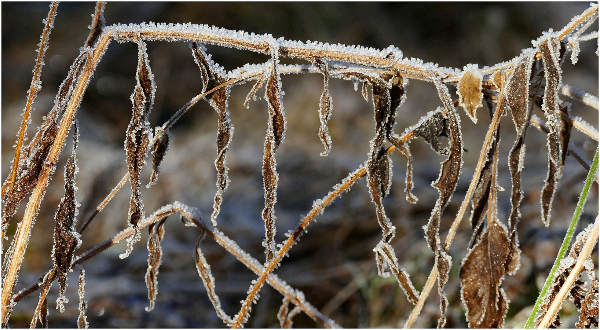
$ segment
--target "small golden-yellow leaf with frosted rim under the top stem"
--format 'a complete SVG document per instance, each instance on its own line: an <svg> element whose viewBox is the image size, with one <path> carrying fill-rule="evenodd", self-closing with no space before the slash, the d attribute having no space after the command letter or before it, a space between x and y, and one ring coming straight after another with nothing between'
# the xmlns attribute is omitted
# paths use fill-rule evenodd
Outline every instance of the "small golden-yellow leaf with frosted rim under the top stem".
<svg viewBox="0 0 600 330"><path fill-rule="evenodd" d="M478 65L469 64L464 67L463 75L458 80L458 88L456 90L458 104L464 108L467 116L475 123L477 122L476 110L483 106L482 80L483 75L479 71Z"/></svg>

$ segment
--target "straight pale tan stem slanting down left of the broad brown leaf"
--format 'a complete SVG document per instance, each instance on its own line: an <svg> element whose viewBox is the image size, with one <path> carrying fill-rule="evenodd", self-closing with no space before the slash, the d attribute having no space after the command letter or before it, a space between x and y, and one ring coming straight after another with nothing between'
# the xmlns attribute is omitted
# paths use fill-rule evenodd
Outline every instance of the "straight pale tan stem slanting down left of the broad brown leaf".
<svg viewBox="0 0 600 330"><path fill-rule="evenodd" d="M494 116L491 119L490 127L488 128L487 134L485 134L484 144L483 144L483 146L481 148L481 152L479 154L479 160L478 160L477 166L475 167L475 172L473 173L473 179L471 180L471 184L469 185L469 189L467 190L466 196L464 196L463 203L460 205L458 214L457 214L456 218L454 219L454 222L452 223L452 227L450 227L448 236L446 236L446 243L444 245L445 251L448 251L448 249L450 248L450 245L452 244L452 239L454 239L454 234L456 233L456 230L458 229L458 225L460 224L460 221L463 220L464 212L467 210L469 201L471 200L471 197L473 196L473 191L475 191L475 186L477 185L477 181L479 179L479 173L481 173L481 170L485 163L485 158L486 158L485 155L487 155L488 149L490 148L490 142L491 142L492 136L494 134L494 131L496 131L498 124L500 122L500 116L504 112L504 109L503 109L504 103L505 103L504 92L501 90L500 95L499 95L498 105L496 106L496 111L494 112ZM419 301L413 308L412 313L410 313L409 319L406 321L404 328L410 328L410 326L412 326L413 323L415 323L416 318L421 313L421 309L425 305L425 299L427 299L427 297L429 296L429 292L433 288L433 284L435 283L436 277L437 277L437 267L434 266L433 269L431 269L431 274L427 278L427 282L425 283L425 287L423 288L421 297L419 298Z"/></svg>

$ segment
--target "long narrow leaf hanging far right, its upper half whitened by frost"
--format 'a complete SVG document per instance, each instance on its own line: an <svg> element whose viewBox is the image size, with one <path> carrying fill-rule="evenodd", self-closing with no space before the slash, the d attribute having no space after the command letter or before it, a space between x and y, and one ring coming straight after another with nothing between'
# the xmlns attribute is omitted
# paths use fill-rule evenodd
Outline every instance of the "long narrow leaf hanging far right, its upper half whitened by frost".
<svg viewBox="0 0 600 330"><path fill-rule="evenodd" d="M556 35L549 35L538 41L538 48L542 53L546 77L542 110L548 118L547 124L550 129L550 133L548 133L548 175L544 181L541 194L542 221L548 227L550 226L552 201L559 179L562 176L560 155L563 153L564 147L561 142L562 123L559 115L560 39Z"/></svg>

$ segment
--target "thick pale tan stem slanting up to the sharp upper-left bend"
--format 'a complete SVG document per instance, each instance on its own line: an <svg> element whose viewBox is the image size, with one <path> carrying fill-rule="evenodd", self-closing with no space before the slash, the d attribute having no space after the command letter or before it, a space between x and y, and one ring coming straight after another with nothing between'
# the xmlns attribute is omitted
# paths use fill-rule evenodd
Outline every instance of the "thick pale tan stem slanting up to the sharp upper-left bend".
<svg viewBox="0 0 600 330"><path fill-rule="evenodd" d="M94 52L88 55L88 61L83 67L81 76L74 88L73 95L69 100L67 109L65 109L55 142L52 144L52 148L50 148L46 163L44 163L44 166L41 169L40 178L38 179L34 191L31 193L31 198L29 199L25 209L25 215L23 215L21 225L14 236L14 240L16 240L14 252L10 263L8 264L4 286L2 287L2 323L7 321L8 314L10 313L10 298L17 282L21 263L23 262L23 255L25 254L25 250L29 243L29 235L31 234L35 216L40 208L41 200L43 199L44 193L46 193L46 188L48 182L50 181L50 177L56 169L58 155L61 153L62 147L67 139L67 134L71 129L71 125L73 124L73 118L77 112L77 109L79 108L83 94L85 94L85 89L88 86L89 79L91 78L96 65L100 61L100 58L102 55L104 55L104 51L109 45L110 40L110 33L104 33L101 35Z"/></svg>

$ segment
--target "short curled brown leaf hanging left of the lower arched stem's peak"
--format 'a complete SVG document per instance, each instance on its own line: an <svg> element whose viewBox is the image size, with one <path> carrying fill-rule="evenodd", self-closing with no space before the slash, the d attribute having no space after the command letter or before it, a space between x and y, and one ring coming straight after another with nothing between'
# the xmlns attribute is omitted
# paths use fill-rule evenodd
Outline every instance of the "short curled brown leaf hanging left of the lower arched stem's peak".
<svg viewBox="0 0 600 330"><path fill-rule="evenodd" d="M154 309L154 302L158 295L158 268L163 263L163 247L161 242L164 237L164 220L148 227L148 269L146 270L146 287L148 287L148 301L150 305L146 311Z"/></svg>

